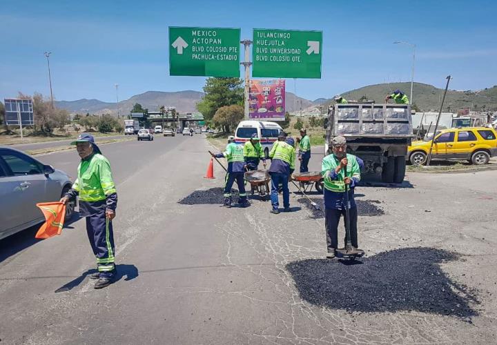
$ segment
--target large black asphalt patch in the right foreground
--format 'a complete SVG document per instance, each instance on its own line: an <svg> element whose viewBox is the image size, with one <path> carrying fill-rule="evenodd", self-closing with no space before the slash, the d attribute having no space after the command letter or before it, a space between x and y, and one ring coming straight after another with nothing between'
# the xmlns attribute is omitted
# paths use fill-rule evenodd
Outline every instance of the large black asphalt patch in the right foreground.
<svg viewBox="0 0 497 345"><path fill-rule="evenodd" d="M420 311L468 320L478 315L470 306L478 304L475 290L452 282L438 265L456 258L445 250L404 248L358 262L307 259L286 269L300 297L318 306L364 313Z"/></svg>

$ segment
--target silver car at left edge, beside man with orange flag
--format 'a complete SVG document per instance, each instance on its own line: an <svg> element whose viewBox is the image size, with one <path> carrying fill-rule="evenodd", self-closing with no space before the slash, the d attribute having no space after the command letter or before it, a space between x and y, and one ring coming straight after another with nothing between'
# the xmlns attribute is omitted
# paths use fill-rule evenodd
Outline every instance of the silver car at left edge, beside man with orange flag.
<svg viewBox="0 0 497 345"><path fill-rule="evenodd" d="M36 204L59 201L71 186L66 172L0 146L0 239L43 222ZM74 209L75 202L69 203L66 221Z"/></svg>

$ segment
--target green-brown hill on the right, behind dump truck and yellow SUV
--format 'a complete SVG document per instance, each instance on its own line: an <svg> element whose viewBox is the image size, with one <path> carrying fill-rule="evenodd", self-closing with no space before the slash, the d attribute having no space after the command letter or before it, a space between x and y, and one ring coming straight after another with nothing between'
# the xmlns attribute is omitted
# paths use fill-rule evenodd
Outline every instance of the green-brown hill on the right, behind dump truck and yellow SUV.
<svg viewBox="0 0 497 345"><path fill-rule="evenodd" d="M449 85L450 86L450 85ZM378 103L384 102L386 95L389 95L393 90L402 90L409 97L411 91L411 83L382 83L370 86L364 86L356 90L351 90L342 93L342 97L346 99L358 100L365 96L367 99L372 99ZM440 108L440 100L443 96L443 89L425 83L414 83L413 85L413 99L414 103L421 110L438 110ZM333 102L332 99L326 101L329 106ZM485 105L488 110L497 110L497 86L487 88L479 91L456 91L448 90L445 97L444 110L450 105L451 110L461 108L471 108Z"/></svg>

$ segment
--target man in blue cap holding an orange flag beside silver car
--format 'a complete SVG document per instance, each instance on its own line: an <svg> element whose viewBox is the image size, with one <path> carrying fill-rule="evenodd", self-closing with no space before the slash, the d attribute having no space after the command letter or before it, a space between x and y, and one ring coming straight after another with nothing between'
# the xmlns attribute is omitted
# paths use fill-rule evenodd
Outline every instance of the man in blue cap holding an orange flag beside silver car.
<svg viewBox="0 0 497 345"><path fill-rule="evenodd" d="M98 279L95 288L104 288L114 281L116 275L112 221L117 207L117 192L109 161L101 154L92 135L81 133L71 145L76 145L81 162L75 183L60 201L67 204L79 196L79 214L86 217L86 233L97 257L98 272L90 277Z"/></svg>

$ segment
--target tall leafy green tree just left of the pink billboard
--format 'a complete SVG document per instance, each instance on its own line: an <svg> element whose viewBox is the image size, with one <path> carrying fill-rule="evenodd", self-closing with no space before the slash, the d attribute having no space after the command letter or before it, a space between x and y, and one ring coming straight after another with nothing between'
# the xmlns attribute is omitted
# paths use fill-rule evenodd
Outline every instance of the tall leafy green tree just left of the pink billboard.
<svg viewBox="0 0 497 345"><path fill-rule="evenodd" d="M204 98L197 103L197 110L206 121L214 118L223 106L243 106L244 90L240 78L207 78L204 86Z"/></svg>

